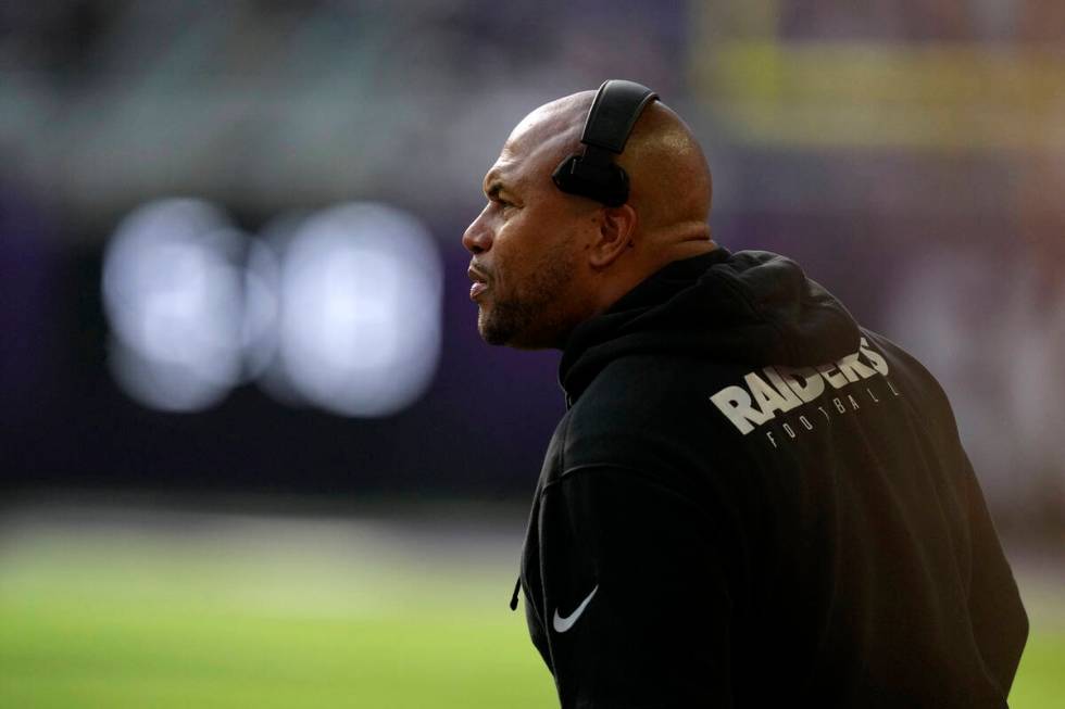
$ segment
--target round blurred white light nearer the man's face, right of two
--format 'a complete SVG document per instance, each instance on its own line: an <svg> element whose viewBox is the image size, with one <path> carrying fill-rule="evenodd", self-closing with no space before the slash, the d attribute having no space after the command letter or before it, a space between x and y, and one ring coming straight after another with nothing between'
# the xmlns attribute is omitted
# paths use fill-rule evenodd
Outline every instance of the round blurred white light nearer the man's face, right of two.
<svg viewBox="0 0 1065 709"><path fill-rule="evenodd" d="M281 252L280 370L308 401L388 416L433 379L443 267L414 217L381 204L311 216Z"/></svg>

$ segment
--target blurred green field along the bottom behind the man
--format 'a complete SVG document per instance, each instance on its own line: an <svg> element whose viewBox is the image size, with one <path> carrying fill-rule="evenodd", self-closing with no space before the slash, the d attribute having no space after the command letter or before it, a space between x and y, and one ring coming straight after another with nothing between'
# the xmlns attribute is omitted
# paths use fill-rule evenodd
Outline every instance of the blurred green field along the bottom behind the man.
<svg viewBox="0 0 1065 709"><path fill-rule="evenodd" d="M0 527L0 707L557 706L511 527L165 518ZM1012 706L1062 706L1060 620Z"/></svg>

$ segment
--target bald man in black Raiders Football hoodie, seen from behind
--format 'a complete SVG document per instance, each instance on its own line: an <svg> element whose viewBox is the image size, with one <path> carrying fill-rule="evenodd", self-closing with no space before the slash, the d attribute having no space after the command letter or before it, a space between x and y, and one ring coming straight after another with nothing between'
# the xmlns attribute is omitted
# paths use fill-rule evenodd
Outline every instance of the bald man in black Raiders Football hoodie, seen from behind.
<svg viewBox="0 0 1065 709"><path fill-rule="evenodd" d="M481 337L563 351L521 575L562 706L1005 706L1027 619L942 390L793 262L711 240L662 103L627 199L560 189L593 99L522 121L463 236Z"/></svg>

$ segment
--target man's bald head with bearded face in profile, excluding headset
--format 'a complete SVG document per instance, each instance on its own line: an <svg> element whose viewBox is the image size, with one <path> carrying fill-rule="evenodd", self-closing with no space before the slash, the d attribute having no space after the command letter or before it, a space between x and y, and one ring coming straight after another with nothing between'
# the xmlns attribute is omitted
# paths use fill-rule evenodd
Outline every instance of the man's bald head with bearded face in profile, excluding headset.
<svg viewBox="0 0 1065 709"><path fill-rule="evenodd" d="M643 110L616 160L629 176L619 206L563 192L551 179L582 152L594 91L547 103L514 128L485 175L488 204L463 235L473 254L471 297L493 344L562 346L666 264L716 246L711 178L688 126L659 102Z"/></svg>

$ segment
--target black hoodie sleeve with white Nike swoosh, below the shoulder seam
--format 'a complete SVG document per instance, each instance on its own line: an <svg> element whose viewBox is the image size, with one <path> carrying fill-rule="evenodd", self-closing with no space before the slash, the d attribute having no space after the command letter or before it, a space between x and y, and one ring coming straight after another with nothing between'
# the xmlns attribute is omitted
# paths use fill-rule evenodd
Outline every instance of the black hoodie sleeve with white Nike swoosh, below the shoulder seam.
<svg viewBox="0 0 1065 709"><path fill-rule="evenodd" d="M704 517L638 471L543 492L540 566L563 709L731 707L731 603Z"/></svg>

